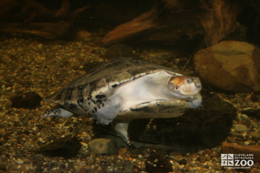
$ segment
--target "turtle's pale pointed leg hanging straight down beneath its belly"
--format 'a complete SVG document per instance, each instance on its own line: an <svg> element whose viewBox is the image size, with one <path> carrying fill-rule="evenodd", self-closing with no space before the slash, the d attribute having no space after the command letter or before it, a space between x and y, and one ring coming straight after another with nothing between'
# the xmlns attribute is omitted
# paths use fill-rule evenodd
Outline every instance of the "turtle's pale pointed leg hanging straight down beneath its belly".
<svg viewBox="0 0 260 173"><path fill-rule="evenodd" d="M114 120L111 124L113 129L117 132L117 134L125 141L128 145L130 145L130 139L128 136L128 126L131 120Z"/></svg>

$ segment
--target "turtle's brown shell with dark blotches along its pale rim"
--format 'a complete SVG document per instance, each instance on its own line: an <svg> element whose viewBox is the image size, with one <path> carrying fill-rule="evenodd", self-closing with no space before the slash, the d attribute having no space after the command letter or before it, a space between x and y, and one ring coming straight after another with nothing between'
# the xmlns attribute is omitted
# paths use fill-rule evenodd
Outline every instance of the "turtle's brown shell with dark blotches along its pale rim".
<svg viewBox="0 0 260 173"><path fill-rule="evenodd" d="M102 65L92 69L89 73L76 78L46 99L75 114L93 115L95 114L95 109L106 101L117 87L159 70L165 70L173 75L181 76L181 74L174 72L170 68L156 65L139 58L114 59L104 62ZM176 112L176 110L179 110L179 114L182 114L187 107L187 102L183 100L173 100L172 102L156 100L131 108L130 111L134 113L131 114L133 116L131 119L142 118L140 113L151 114L151 112L160 112L160 110L164 112ZM122 112L118 114L118 118L128 115L130 114ZM172 115L170 116L174 117ZM168 117L169 115L165 118Z"/></svg>

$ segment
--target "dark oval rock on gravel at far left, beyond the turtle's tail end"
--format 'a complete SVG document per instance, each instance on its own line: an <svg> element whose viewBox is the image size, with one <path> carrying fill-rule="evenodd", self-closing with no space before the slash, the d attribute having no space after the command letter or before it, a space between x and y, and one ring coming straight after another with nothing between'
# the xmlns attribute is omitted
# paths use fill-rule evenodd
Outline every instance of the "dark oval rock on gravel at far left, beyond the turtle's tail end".
<svg viewBox="0 0 260 173"><path fill-rule="evenodd" d="M41 106L42 97L36 92L26 92L22 95L15 96L11 99L13 108L33 109Z"/></svg>

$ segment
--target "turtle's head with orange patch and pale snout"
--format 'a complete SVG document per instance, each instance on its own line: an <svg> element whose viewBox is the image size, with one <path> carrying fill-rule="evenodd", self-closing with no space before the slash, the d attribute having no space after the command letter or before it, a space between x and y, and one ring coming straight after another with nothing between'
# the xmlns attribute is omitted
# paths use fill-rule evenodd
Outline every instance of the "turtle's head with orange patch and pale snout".
<svg viewBox="0 0 260 173"><path fill-rule="evenodd" d="M198 94L202 85L197 77L174 76L168 82L168 88L177 98L189 98Z"/></svg>

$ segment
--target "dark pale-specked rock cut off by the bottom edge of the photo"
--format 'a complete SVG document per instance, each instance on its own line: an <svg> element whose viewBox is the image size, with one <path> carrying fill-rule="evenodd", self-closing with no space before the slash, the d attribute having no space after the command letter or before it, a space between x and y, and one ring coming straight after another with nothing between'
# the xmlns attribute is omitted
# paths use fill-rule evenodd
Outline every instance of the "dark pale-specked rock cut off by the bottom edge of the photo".
<svg viewBox="0 0 260 173"><path fill-rule="evenodd" d="M148 173L169 173L173 171L170 159L163 155L152 154L145 161L146 171Z"/></svg>

